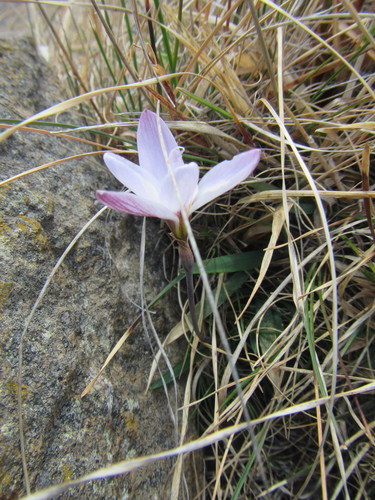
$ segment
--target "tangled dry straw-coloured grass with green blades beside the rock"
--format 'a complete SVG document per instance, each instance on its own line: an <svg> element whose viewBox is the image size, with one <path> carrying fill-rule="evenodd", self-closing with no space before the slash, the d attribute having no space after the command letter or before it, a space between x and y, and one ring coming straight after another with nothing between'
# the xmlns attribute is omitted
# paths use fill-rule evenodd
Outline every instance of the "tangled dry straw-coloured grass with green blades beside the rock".
<svg viewBox="0 0 375 500"><path fill-rule="evenodd" d="M203 259L232 256L197 284L212 345L190 339L186 361L181 445L192 419L191 449L209 444L199 498L373 498L375 15L347 0L147 3L32 8L72 97L93 92L74 137L133 148L159 104L202 170L263 151L254 180L191 221ZM236 268L248 251L256 269Z"/></svg>

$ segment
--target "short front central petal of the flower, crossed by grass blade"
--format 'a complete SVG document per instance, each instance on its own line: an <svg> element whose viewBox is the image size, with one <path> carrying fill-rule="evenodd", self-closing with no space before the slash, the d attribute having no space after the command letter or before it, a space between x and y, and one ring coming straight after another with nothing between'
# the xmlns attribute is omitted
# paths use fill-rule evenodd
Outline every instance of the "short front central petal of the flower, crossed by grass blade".
<svg viewBox="0 0 375 500"><path fill-rule="evenodd" d="M189 205L197 195L199 180L199 167L196 163L189 163L176 168L174 171L177 188L183 206L189 210ZM160 203L166 205L175 213L180 211L180 203L176 193L175 184L171 175L167 174L160 187ZM189 210L190 211L190 210Z"/></svg>

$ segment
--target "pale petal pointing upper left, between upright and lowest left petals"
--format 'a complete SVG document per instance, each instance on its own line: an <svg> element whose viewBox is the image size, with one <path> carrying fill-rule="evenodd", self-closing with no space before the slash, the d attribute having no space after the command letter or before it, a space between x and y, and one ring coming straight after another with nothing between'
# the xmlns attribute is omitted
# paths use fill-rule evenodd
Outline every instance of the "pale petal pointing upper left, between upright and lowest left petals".
<svg viewBox="0 0 375 500"><path fill-rule="evenodd" d="M103 159L116 179L133 193L151 200L158 200L155 179L139 165L113 153L105 153Z"/></svg>

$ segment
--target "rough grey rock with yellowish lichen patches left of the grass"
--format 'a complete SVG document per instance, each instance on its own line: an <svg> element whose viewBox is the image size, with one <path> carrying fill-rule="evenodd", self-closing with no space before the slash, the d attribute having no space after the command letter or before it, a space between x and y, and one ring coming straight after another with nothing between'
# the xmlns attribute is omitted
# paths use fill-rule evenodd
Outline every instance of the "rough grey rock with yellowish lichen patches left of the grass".
<svg viewBox="0 0 375 500"><path fill-rule="evenodd" d="M51 68L36 57L28 40L0 41L0 88L2 119L26 118L64 100ZM90 147L18 131L0 143L1 180L84 151ZM1 498L25 494L17 412L18 348L25 321L67 245L101 208L95 190L118 189L98 158L64 162L0 188ZM140 219L109 211L96 220L54 276L25 336L22 409L32 491L176 445L164 392L145 394L153 358L142 326L92 392L79 396L139 313L134 304L140 304L140 228ZM158 222L148 221L147 298L165 285L163 247L155 252L159 228ZM161 337L173 318L168 302L153 314ZM81 485L59 498L165 499L172 470L172 462L157 462Z"/></svg>

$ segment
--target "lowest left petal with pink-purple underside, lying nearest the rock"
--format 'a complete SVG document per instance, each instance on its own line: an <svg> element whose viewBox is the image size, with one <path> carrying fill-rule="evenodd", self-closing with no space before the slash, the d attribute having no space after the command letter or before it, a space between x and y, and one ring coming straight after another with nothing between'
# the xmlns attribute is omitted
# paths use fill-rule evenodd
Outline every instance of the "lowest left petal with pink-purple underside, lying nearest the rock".
<svg viewBox="0 0 375 500"><path fill-rule="evenodd" d="M178 217L167 207L158 202L142 198L132 193L122 193L118 191L97 191L96 197L104 205L107 205L119 212L132 215L142 215L144 217L157 217L173 223L178 223Z"/></svg>

